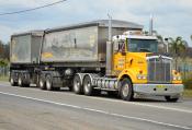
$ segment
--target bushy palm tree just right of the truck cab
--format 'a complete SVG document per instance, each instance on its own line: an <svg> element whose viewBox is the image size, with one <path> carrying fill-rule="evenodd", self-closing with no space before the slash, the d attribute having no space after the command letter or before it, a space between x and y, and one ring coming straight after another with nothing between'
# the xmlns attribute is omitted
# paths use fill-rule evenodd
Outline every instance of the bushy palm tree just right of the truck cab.
<svg viewBox="0 0 192 130"><path fill-rule="evenodd" d="M182 39L182 37L178 36L176 39L169 38L170 54L174 57L176 70L178 69L178 57L185 58L188 43Z"/></svg>

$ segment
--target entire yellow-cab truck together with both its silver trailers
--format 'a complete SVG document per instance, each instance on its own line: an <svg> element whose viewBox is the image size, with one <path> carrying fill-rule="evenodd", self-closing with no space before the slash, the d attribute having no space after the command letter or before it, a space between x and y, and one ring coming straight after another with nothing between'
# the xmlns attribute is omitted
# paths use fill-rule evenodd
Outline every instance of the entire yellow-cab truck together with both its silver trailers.
<svg viewBox="0 0 192 130"><path fill-rule="evenodd" d="M172 58L158 54L156 36L143 26L108 20L11 36L11 85L42 90L68 86L76 94L106 91L132 101L135 95L177 102L183 91ZM109 38L108 38L109 37Z"/></svg>

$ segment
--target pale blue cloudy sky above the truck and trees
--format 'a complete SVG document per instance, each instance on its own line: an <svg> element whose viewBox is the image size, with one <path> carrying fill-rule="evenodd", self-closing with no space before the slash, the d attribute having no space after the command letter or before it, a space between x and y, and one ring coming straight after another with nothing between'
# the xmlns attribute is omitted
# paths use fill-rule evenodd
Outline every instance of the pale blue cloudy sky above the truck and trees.
<svg viewBox="0 0 192 130"><path fill-rule="evenodd" d="M58 0L0 0L0 13L31 9ZM124 20L148 31L150 14L154 29L163 37L182 36L192 46L192 0L67 0L60 4L27 13L0 16L0 39L30 29L44 29L93 20Z"/></svg>

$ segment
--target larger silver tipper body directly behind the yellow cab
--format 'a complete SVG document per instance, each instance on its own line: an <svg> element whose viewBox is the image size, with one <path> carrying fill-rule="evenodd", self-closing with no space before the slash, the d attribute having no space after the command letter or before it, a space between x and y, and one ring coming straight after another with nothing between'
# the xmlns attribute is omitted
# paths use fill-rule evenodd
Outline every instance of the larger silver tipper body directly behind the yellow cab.
<svg viewBox="0 0 192 130"><path fill-rule="evenodd" d="M70 66L89 66L105 62L109 21L93 21L45 31L42 62L66 62ZM112 35L128 29L143 29L142 25L112 21Z"/></svg>

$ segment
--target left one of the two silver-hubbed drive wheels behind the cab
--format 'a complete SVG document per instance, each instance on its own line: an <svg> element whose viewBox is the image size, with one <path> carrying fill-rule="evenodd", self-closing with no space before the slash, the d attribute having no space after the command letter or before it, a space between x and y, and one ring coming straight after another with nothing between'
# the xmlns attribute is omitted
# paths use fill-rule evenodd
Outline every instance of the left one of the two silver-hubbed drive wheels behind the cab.
<svg viewBox="0 0 192 130"><path fill-rule="evenodd" d="M76 94L82 93L81 80L80 80L80 76L78 74L76 74L74 78L74 92Z"/></svg>

